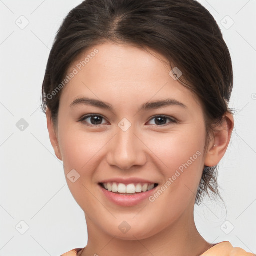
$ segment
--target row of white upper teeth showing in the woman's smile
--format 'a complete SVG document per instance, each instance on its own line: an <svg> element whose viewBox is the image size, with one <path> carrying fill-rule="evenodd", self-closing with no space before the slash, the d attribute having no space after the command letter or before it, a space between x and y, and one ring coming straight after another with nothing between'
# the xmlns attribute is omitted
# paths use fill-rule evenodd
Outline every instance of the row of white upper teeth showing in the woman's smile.
<svg viewBox="0 0 256 256"><path fill-rule="evenodd" d="M137 184L123 184L116 182L103 183L103 187L110 192L134 194L140 192L146 192L154 188L154 183L137 183Z"/></svg>

